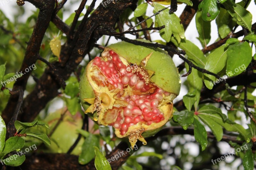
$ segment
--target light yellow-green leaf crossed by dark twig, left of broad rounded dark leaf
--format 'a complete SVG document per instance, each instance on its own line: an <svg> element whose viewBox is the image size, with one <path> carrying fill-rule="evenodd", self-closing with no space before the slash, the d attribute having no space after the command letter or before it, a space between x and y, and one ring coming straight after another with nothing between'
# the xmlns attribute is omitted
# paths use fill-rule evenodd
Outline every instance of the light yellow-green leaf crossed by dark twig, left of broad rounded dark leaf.
<svg viewBox="0 0 256 170"><path fill-rule="evenodd" d="M219 73L225 67L227 57L227 50L225 51L224 46L220 46L208 55L204 69L215 74ZM204 84L208 89L212 89L214 81L215 76L204 74Z"/></svg>

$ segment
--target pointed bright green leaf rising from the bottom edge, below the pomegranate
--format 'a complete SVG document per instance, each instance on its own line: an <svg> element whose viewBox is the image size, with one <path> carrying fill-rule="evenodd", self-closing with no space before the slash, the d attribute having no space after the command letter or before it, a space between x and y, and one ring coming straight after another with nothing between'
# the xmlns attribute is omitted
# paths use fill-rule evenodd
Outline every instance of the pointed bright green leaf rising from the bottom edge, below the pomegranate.
<svg viewBox="0 0 256 170"><path fill-rule="evenodd" d="M108 163L106 157L100 152L99 148L96 146L93 146L95 149L95 167L97 170L111 170L111 166ZM103 164L104 163L104 164Z"/></svg>

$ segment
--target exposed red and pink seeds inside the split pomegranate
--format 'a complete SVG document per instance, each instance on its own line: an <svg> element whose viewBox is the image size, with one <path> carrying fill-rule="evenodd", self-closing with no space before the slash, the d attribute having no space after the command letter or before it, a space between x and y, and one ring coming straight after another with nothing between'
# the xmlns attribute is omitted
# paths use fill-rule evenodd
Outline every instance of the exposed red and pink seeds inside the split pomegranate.
<svg viewBox="0 0 256 170"><path fill-rule="evenodd" d="M109 51L109 56L105 58L95 57L93 66L97 67L92 68L92 80L98 86L107 86L109 90L120 89L116 97L127 103L112 107L104 113L116 113L109 125L120 130L121 135L125 135L129 127L139 122L151 125L164 120L164 114L158 106L163 95L169 96L170 93L149 83L143 71L136 71L136 64L126 66L115 52Z"/></svg>

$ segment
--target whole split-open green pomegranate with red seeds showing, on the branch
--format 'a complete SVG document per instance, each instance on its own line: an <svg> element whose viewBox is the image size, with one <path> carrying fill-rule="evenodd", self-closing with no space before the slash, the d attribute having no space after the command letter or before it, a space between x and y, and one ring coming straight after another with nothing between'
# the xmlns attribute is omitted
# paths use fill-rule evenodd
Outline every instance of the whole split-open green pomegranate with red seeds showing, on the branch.
<svg viewBox="0 0 256 170"><path fill-rule="evenodd" d="M141 40L140 40L141 41ZM86 67L80 81L85 113L99 125L113 126L119 138L137 140L156 134L172 117L180 78L162 49L119 42L106 47Z"/></svg>

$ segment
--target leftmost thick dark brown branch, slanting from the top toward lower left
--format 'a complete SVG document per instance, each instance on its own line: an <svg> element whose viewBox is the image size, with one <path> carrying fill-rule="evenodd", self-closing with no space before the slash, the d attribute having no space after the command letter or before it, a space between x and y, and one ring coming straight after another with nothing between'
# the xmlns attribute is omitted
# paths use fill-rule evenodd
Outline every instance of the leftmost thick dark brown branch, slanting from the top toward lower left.
<svg viewBox="0 0 256 170"><path fill-rule="evenodd" d="M37 3L37 1L35 1L35 3ZM25 57L20 68L20 71L22 71L23 73L25 72L26 68L29 68L31 67L31 65L36 63L37 55L39 54L44 33L51 21L52 12L54 9L54 3L55 3L54 0L45 0L43 3L44 5L39 6L40 11L38 14L36 25L34 27L32 36L28 42ZM31 72L32 71L26 72L26 74L24 74L21 78L18 78L15 84L13 85L12 91L16 91L18 89L22 89L24 91L27 85L27 80ZM14 109L17 102L18 102L18 95L17 94L11 95L11 97L9 98L8 104L6 105L2 114L2 117L5 122L10 121L12 117L12 113L14 113Z"/></svg>

